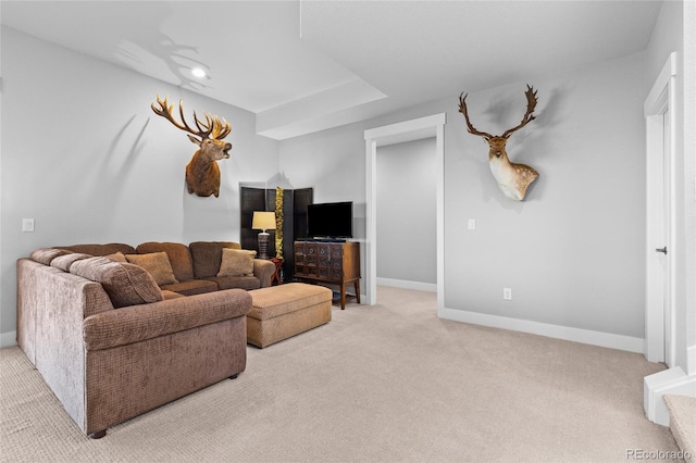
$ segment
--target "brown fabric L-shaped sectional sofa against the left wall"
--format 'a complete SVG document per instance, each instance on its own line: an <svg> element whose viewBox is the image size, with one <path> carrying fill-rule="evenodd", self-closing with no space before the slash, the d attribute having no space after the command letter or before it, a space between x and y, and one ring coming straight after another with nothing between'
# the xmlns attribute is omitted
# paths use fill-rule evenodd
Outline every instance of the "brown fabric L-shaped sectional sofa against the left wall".
<svg viewBox="0 0 696 463"><path fill-rule="evenodd" d="M209 276L225 247L238 245L77 245L17 261L17 342L85 434L244 372L244 289L270 286L275 265ZM119 252L166 252L178 283L103 256Z"/></svg>

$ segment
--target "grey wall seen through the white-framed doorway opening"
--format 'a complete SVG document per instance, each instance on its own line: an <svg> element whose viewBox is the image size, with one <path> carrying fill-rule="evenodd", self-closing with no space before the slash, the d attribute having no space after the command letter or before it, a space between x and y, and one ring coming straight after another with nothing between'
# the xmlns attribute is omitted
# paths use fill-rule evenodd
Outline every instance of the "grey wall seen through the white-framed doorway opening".
<svg viewBox="0 0 696 463"><path fill-rule="evenodd" d="M435 288L436 165L435 138L377 148L376 275L380 284Z"/></svg>

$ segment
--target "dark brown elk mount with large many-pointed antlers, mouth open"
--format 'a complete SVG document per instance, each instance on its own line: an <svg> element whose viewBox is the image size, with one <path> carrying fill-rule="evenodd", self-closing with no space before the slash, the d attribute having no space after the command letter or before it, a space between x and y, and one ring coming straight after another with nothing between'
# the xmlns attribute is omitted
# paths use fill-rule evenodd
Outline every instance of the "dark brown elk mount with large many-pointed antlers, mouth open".
<svg viewBox="0 0 696 463"><path fill-rule="evenodd" d="M201 197L215 195L215 198L217 198L220 196L220 167L215 161L229 158L232 143L222 141L232 132L229 123L224 118L221 121L220 117L208 113L204 113L206 122L202 122L198 120L196 111L194 111L194 122L196 123L196 128L194 129L188 126L184 117L183 100L178 102L182 123L178 123L172 115L174 105L170 105L166 98L162 101L158 95L157 102L160 107L158 108L152 103L150 105L152 111L174 124L177 128L191 134L188 135L188 139L198 145L198 151L194 153L190 162L186 165L188 192L195 192Z"/></svg>

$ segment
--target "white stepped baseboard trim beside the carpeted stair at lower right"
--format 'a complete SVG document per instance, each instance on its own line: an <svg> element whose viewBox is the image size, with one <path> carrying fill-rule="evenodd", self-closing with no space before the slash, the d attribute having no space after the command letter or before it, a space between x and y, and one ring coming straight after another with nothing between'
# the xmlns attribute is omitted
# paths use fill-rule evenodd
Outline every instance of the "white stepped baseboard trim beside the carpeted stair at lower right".
<svg viewBox="0 0 696 463"><path fill-rule="evenodd" d="M696 397L696 375L689 376L680 366L674 366L643 378L645 415L662 426L670 425L670 414L662 400L666 393Z"/></svg>

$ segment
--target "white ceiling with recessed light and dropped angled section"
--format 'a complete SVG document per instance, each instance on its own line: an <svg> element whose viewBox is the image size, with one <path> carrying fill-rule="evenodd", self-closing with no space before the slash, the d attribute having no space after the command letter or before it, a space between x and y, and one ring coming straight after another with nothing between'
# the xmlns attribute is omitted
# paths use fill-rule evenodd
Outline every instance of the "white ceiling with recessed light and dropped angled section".
<svg viewBox="0 0 696 463"><path fill-rule="evenodd" d="M2 24L285 139L644 50L661 1L8 1ZM209 72L198 79L190 70ZM202 109L204 111L204 109Z"/></svg>

